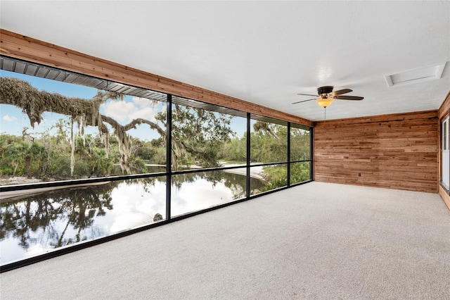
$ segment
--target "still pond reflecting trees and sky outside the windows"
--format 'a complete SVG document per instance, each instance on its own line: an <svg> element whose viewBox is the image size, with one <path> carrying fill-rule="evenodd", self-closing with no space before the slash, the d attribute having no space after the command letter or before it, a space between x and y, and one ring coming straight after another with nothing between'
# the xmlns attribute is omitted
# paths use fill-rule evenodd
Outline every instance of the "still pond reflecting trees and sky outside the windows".
<svg viewBox="0 0 450 300"><path fill-rule="evenodd" d="M234 170L172 175L172 218L244 198L245 176ZM0 264L165 220L166 182L141 178L0 199ZM263 186L251 178L252 194Z"/></svg>

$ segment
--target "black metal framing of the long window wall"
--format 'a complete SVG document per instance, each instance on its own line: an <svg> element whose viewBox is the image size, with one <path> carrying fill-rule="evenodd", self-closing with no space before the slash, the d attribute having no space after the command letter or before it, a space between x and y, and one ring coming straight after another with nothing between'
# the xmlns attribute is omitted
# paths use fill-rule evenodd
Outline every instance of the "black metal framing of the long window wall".
<svg viewBox="0 0 450 300"><path fill-rule="evenodd" d="M12 59L15 61L19 61L21 62L22 60L19 60L17 58L9 58L8 56L0 56L1 59ZM30 63L28 61L23 61L25 63ZM32 65L38 65L41 66L37 63L30 63ZM42 65L44 66L44 65ZM117 82L112 82L112 81L108 81L108 80L104 80L101 78L97 78L91 75L84 75L84 74L79 74L79 73L75 73L72 71L67 71L67 70L63 70L63 69L58 69L58 68L53 68L53 67L49 67L49 66L44 66L46 68L49 68L51 70L58 70L60 72L63 73L68 73L68 74L74 74L74 75L79 75L82 77L86 77L86 78L92 78L92 79L96 79L96 80L101 80L103 82L107 82L107 85L110 83L117 83ZM3 61L2 61L2 68L3 68ZM11 71L13 72L13 71ZM25 74L25 73L23 73ZM28 75L28 74L27 74ZM32 75L30 75L32 76ZM51 78L47 78L49 80L55 80L55 79L51 79ZM61 81L61 80L57 80L57 81ZM72 83L72 82L70 82ZM119 84L119 83L117 83ZM141 87L134 87L132 85L124 85L124 84L120 84L124 87L133 87L136 89L142 89ZM199 215L201 213L206 213L209 211L214 211L216 209L219 208L224 208L226 206L231 206L233 204L238 204L240 202L243 201L249 201L252 199L255 199L259 196L265 196L267 194L272 194L275 192L279 192L283 189L288 189L290 187L296 187L299 185L304 185L308 182L313 181L312 180L312 170L313 170L313 156L312 154L314 153L314 149L313 149L313 145L312 145L312 136L313 136L313 127L307 126L307 125L302 125L302 124L297 124L297 123L292 123L292 122L288 122L285 120L278 120L276 118L271 118L271 117L265 117L262 115L256 115L254 113L245 113L246 114L246 119L247 119L247 161L245 163L245 165L238 165L238 166L233 166L233 167L217 167L217 168L200 168L200 169L192 169L192 170L177 170L177 171L172 171L171 168L171 163L172 163L172 159L169 159L172 157L172 135L170 134L170 132L172 132L172 94L167 94L165 92L159 92L159 91L152 91L150 89L143 89L146 90L148 92L155 92L155 93L159 93L159 94L165 94L166 95L166 101L162 101L162 102L166 102L167 103L167 139L166 139L166 151L167 151L167 163L166 163L166 171L165 172L159 172L159 173L143 173L143 174L131 174L131 175L120 175L120 176L106 176L106 177L95 177L95 178L85 178L85 179L76 179L76 180L60 180L60 181L53 181L53 182L39 182L39 183L33 183L33 184L25 184L25 185L5 185L5 186L1 186L0 187L0 192L11 192L11 191L18 191L18 190L28 190L28 189L39 189L39 188L45 188L45 187L75 187L77 185L85 185L85 184L89 184L89 183L94 183L94 182L108 182L108 181L118 181L118 180L132 180L132 179L139 179L139 178L150 178L150 177L166 177L166 182L167 182L167 191L166 191L166 219L165 220L161 220L158 223L152 223L152 224L148 224L148 225L143 225L141 227L135 227L132 228L130 230L126 230L126 231L122 231L122 232L116 232L113 233L111 235L105 236L105 237L99 237L96 239L91 239L89 241L85 241L85 242L78 242L76 244L72 244L70 246L63 246L63 247L59 247L56 248L52 251L49 251L45 254L40 254L38 256L33 256L31 258L25 258L23 260L20 261L13 261L11 263L6 263L4 265L0 265L0 273L6 272L8 270L13 270L15 268L20 268L22 266L25 265L30 265L32 263L37 263L39 261L44 261L46 259L49 258L53 258L56 256L61 256L63 254L68 254L72 251L77 251L79 249L85 249L89 246L94 246L96 244L101 244L103 242L108 242L120 237L125 237L127 235L132 235L136 232L141 232L143 230L148 230L150 228L153 227L158 227L160 225L165 225L167 223L172 223L175 222L177 220L183 220L185 218L189 218L193 215ZM182 98L179 96L176 96L177 99L178 98ZM226 111L230 111L230 112L235 112L235 113L229 113L231 115L236 115L240 118L245 118L242 115L244 114L243 111L238 111L236 109L233 108L225 108L224 106L219 106L217 104L207 104L205 102L202 101L198 101L198 100L193 100L193 99L188 99L185 98L188 101L195 101L195 103L199 103L199 104L205 104L205 108L202 109L207 109L210 107L218 107L219 111L217 111L217 113L227 113ZM183 104L180 104L183 105ZM201 108L201 107L198 107ZM309 135L310 135L310 143L309 143L309 149L310 149L310 158L307 160L300 160L300 161L290 161L290 147L289 147L289 141L290 141L290 134L288 134L288 160L287 161L282 161L282 162L271 162L271 163L250 163L250 132L251 132L251 120L262 120L265 122L269 122L269 123L274 123L274 124L278 124L278 125L287 125L288 129L291 128L291 126L293 128L298 128L298 129L302 129L302 130L307 130L309 131ZM170 121L170 122L169 122ZM290 133L290 131L288 131ZM309 180L305 180L303 182L296 182L295 184L290 184L290 174L289 174L289 168L290 168L290 163L300 163L300 162L311 162L310 163L310 178ZM266 192L261 192L258 194L253 194L250 195L250 168L252 167L258 167L258 166L271 166L271 165L286 165L287 169L288 169L288 177L287 177L287 181L288 181L288 185L283 186L283 187L278 187L276 189L271 189L269 191ZM247 174L246 174L246 182L247 182L247 190L246 190L246 195L245 197L243 197L242 199L237 199L234 201L230 201L226 204L219 204L217 206L212 206L210 208L205 208L203 210L200 211L193 211L193 212L189 212L183 215L177 215L176 217L172 217L170 215L170 200L171 200L171 189L172 189L172 184L171 184L171 178L172 175L181 175L181 174L188 174L188 173L201 173L201 172L209 172L209 171L223 171L223 170L232 170L232 169L237 169L237 168L246 168L247 170Z"/></svg>

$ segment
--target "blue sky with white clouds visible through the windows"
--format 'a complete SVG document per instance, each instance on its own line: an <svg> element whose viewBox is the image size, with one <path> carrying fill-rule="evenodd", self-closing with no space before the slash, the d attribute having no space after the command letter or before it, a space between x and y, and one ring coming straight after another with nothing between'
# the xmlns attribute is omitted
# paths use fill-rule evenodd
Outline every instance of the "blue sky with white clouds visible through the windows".
<svg viewBox="0 0 450 300"><path fill-rule="evenodd" d="M92 87L84 87L82 85L74 85L66 82L59 82L56 80L49 80L41 77L34 77L30 75L23 75L20 73L13 73L5 70L0 71L1 77L16 77L30 82L33 87L47 92L56 92L68 97L78 97L84 99L92 99L97 89ZM108 115L114 118L122 125L126 125L131 120L136 118L143 118L155 122L155 115L162 110L165 110L165 103L160 102L154 105L152 101L136 96L125 96L124 101L108 100L102 104L100 112L103 115ZM0 104L0 133L7 133L10 135L22 135L24 127L28 127L27 132L32 136L38 136L39 132L44 132L52 125L63 118L69 120L65 115L58 113L44 113L44 120L38 125L34 124L34 129L30 125L30 120L25 113L22 113L20 108L8 104ZM245 118L235 117L232 120L231 128L238 132L238 136L243 135L246 128ZM98 130L96 127L87 127L85 129L87 134L96 135ZM129 130L128 133L133 137L139 137L141 140L156 139L160 137L158 132L151 130L146 124L138 125L136 129Z"/></svg>

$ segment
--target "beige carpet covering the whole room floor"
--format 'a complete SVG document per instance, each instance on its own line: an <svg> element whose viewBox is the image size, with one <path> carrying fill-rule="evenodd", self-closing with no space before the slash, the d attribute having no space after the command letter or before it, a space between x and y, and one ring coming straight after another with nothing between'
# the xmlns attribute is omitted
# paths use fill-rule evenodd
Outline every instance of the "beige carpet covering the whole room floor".
<svg viewBox="0 0 450 300"><path fill-rule="evenodd" d="M311 182L0 275L1 299L450 299L437 194Z"/></svg>

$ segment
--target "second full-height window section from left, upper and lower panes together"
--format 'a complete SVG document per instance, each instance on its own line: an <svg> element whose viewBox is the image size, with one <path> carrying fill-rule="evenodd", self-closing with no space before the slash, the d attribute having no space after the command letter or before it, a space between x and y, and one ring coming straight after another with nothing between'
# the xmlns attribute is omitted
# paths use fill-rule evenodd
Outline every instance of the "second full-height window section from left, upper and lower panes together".
<svg viewBox="0 0 450 300"><path fill-rule="evenodd" d="M172 96L173 217L246 197L246 169L236 168L246 163L243 116L233 109Z"/></svg>

